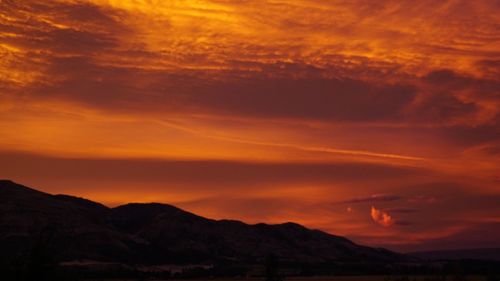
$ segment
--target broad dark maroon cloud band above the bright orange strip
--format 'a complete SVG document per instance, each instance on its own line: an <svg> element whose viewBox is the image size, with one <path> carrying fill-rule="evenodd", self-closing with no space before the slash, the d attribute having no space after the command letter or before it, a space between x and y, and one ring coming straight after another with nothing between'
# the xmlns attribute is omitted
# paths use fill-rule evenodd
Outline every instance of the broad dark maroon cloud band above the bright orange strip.
<svg viewBox="0 0 500 281"><path fill-rule="evenodd" d="M374 122L400 118L415 97L411 85L348 78L221 73L215 80L200 71L172 74L102 66L88 57L53 57L48 63L48 73L59 81L32 85L31 98L44 93L44 99L130 114L147 108L152 113Z"/></svg>

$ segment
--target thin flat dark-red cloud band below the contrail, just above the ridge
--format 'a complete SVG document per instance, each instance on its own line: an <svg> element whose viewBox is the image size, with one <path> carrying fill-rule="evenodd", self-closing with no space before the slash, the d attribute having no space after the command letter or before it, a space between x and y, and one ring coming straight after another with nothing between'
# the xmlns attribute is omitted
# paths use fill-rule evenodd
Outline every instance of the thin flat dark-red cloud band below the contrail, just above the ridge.
<svg viewBox="0 0 500 281"><path fill-rule="evenodd" d="M197 189L207 186L233 188L237 185L270 183L331 183L395 179L425 174L419 168L375 163L301 163L242 162L224 160L175 159L79 159L57 158L29 153L0 153L1 176L73 181L162 182L165 185L190 184ZM360 178L359 173L364 177ZM396 196L375 195L378 200L396 200Z"/></svg>

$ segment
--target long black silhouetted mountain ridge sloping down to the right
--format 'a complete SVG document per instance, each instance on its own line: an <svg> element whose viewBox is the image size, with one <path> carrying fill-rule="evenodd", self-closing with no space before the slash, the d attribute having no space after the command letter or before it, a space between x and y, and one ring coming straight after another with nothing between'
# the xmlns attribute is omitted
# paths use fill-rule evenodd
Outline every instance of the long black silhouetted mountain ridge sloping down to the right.
<svg viewBox="0 0 500 281"><path fill-rule="evenodd" d="M409 259L295 223L249 225L212 220L158 203L108 208L1 180L0 258L26 255L41 240L59 261L255 263L270 254L301 263Z"/></svg>

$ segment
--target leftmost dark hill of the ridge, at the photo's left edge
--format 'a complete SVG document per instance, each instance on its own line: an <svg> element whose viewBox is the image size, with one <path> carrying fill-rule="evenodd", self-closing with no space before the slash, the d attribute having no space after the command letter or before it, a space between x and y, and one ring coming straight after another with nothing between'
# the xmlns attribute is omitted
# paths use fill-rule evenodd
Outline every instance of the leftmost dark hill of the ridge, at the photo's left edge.
<svg viewBox="0 0 500 281"><path fill-rule="evenodd" d="M136 242L108 225L109 212L88 200L0 181L1 255L27 255L44 244L61 260L127 256Z"/></svg>

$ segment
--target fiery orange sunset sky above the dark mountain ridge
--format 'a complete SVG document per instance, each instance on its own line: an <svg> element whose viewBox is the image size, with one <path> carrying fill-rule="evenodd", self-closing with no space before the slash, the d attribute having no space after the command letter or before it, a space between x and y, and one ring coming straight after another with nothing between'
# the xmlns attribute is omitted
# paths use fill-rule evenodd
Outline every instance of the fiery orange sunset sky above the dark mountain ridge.
<svg viewBox="0 0 500 281"><path fill-rule="evenodd" d="M0 0L0 178L500 247L498 0Z"/></svg>

